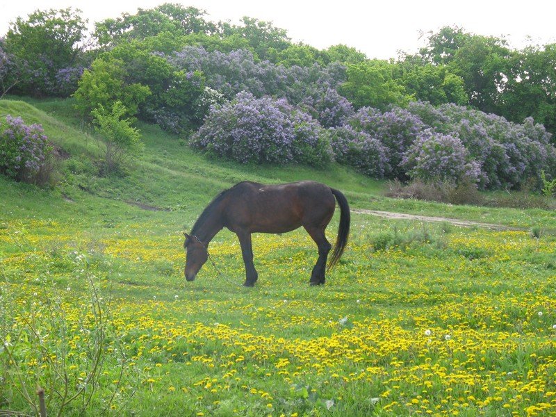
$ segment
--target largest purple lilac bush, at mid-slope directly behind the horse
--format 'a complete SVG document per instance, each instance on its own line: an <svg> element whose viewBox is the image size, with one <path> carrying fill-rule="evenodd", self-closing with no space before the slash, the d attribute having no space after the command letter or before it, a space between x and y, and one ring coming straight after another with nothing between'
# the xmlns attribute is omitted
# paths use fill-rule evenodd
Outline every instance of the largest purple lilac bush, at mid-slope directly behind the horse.
<svg viewBox="0 0 556 417"><path fill-rule="evenodd" d="M191 145L240 163L325 165L332 156L322 131L286 99L257 99L242 92L234 101L212 108Z"/></svg>

